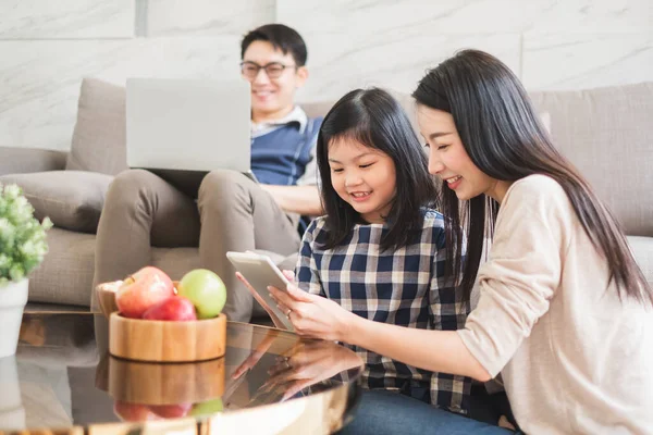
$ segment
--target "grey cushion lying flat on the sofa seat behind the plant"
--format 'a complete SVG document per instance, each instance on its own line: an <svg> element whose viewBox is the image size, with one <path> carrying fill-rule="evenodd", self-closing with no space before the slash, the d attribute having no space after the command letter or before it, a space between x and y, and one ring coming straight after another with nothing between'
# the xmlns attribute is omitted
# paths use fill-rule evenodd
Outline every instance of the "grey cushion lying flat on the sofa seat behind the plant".
<svg viewBox="0 0 653 435"><path fill-rule="evenodd" d="M39 221L49 216L60 228L95 234L112 179L95 172L49 171L3 175L0 183L21 186Z"/></svg>

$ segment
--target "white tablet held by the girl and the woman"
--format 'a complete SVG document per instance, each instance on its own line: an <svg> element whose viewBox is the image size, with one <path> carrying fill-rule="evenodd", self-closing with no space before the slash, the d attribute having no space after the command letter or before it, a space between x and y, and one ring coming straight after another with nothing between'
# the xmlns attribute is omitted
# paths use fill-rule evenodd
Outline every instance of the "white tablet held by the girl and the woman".
<svg viewBox="0 0 653 435"><path fill-rule="evenodd" d="M268 303L283 325L287 330L294 331L293 323L276 308L276 302L270 297L270 291L268 291L268 286L285 290L288 285L288 281L283 276L283 273L272 262L270 257L254 252L230 251L226 252L226 258L245 276L266 303Z"/></svg>

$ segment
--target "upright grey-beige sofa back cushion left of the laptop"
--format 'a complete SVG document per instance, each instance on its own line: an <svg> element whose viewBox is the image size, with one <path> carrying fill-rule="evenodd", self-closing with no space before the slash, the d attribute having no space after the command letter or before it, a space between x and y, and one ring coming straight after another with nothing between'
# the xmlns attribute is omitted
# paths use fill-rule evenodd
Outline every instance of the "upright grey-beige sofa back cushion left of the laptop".
<svg viewBox="0 0 653 435"><path fill-rule="evenodd" d="M65 169L116 175L126 154L125 88L84 78Z"/></svg>

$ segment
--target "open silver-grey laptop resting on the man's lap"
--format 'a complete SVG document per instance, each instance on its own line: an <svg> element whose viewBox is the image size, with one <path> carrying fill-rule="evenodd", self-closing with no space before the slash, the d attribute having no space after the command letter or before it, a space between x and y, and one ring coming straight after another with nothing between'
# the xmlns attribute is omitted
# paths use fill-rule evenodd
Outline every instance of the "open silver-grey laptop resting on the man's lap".
<svg viewBox="0 0 653 435"><path fill-rule="evenodd" d="M250 103L249 83L239 77L127 78L127 165L193 197L212 170L252 177Z"/></svg>

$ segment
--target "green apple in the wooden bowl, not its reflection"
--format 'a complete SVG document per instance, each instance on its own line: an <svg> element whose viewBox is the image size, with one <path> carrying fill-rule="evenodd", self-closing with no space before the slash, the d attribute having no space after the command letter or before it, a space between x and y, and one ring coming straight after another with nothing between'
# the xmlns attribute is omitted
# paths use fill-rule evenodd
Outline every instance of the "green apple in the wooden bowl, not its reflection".
<svg viewBox="0 0 653 435"><path fill-rule="evenodd" d="M226 287L220 276L206 269L195 269L182 277L177 294L190 299L199 319L220 314L226 302Z"/></svg>

